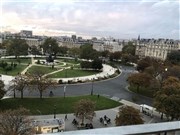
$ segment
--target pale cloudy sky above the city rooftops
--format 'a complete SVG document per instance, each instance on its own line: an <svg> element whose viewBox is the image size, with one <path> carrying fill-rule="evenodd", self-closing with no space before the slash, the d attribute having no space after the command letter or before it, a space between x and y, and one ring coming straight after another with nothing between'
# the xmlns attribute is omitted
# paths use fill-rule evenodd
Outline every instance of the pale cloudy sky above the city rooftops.
<svg viewBox="0 0 180 135"><path fill-rule="evenodd" d="M1 32L180 39L179 0L1 0Z"/></svg>

